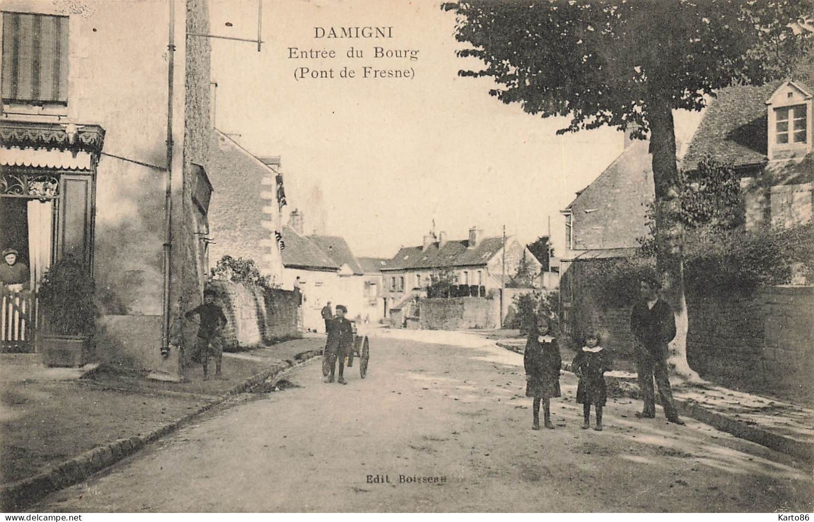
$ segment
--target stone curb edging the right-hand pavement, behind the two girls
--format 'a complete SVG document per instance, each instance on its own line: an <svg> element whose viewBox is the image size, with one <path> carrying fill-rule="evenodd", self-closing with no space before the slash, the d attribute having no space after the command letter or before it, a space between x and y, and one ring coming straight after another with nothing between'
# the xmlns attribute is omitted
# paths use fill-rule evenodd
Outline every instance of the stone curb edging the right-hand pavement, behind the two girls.
<svg viewBox="0 0 814 522"><path fill-rule="evenodd" d="M523 347L520 346L500 342L495 344L514 353L523 353ZM571 364L562 362L562 370L570 372ZM632 386L636 388L635 392L638 393L638 384L636 384L636 379L625 379L623 377L615 377L611 375L606 375L605 379L609 382L616 381L632 384ZM625 390L625 388L620 389L627 392L626 395L629 398L640 398L638 396L632 397L631 392L633 390ZM745 421L740 419L734 419L729 415L724 415L716 411L709 410L699 405L698 402L692 399L686 400L674 398L674 401L678 412L685 417L698 420L713 428L719 429L722 432L727 432L730 435L737 436L737 438L743 439L744 441L754 442L755 444L765 446L770 450L779 451L781 453L790 455L791 457L799 458L804 463L814 463L814 442L798 441L789 436L768 432L763 428L757 428L747 424ZM658 396L656 397L656 402L661 404Z"/></svg>

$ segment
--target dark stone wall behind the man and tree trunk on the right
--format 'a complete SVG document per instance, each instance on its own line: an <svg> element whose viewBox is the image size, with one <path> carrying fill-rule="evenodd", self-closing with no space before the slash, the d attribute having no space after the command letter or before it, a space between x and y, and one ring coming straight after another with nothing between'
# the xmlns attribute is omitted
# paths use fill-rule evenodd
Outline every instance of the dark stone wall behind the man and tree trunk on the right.
<svg viewBox="0 0 814 522"><path fill-rule="evenodd" d="M814 287L766 287L753 296L687 296L689 366L716 384L755 393L814 396ZM578 344L593 330L632 363L630 307L575 295L568 312Z"/></svg>

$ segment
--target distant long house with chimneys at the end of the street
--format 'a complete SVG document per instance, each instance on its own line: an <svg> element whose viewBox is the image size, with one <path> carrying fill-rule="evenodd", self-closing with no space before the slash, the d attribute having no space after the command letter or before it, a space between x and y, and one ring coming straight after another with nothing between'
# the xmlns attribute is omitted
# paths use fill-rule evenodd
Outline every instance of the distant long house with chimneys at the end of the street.
<svg viewBox="0 0 814 522"><path fill-rule="evenodd" d="M501 280L510 283L517 274L523 256L534 274L540 273L540 261L518 239L505 239L505 270L503 238L483 237L483 230L473 227L469 239L448 240L445 232L425 235L421 246L401 248L382 269L384 285L389 293L388 309L399 309L403 301L413 296L426 296L433 276L446 274L458 287L477 288L469 295L487 296L501 288Z"/></svg>

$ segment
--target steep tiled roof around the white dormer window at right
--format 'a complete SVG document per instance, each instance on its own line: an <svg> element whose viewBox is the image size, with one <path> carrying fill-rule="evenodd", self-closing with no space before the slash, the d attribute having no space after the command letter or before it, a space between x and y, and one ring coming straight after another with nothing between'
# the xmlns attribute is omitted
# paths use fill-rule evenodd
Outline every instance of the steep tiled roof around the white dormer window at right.
<svg viewBox="0 0 814 522"><path fill-rule="evenodd" d="M766 163L766 100L782 83L719 90L689 143L682 168L697 169L698 162L708 154L735 167Z"/></svg>

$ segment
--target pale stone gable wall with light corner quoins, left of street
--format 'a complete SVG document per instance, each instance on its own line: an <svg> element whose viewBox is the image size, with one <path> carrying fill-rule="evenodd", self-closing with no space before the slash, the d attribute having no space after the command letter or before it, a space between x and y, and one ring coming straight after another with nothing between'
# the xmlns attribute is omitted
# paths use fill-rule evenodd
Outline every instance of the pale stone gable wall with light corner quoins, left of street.
<svg viewBox="0 0 814 522"><path fill-rule="evenodd" d="M275 231L282 230L277 185L279 158L260 160L212 129L207 169L218 197L209 205L209 259L253 259L260 272L281 283L282 257Z"/></svg>

